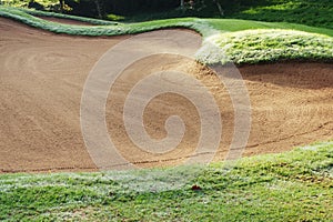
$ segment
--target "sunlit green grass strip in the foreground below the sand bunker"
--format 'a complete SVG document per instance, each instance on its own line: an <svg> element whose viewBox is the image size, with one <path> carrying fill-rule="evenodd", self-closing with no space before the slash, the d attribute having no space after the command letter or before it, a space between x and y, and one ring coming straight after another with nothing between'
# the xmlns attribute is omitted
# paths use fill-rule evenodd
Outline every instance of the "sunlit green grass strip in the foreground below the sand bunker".
<svg viewBox="0 0 333 222"><path fill-rule="evenodd" d="M331 221L333 142L200 167L125 172L2 174L0 220ZM193 191L198 184L202 190ZM138 189L140 188L140 189Z"/></svg>

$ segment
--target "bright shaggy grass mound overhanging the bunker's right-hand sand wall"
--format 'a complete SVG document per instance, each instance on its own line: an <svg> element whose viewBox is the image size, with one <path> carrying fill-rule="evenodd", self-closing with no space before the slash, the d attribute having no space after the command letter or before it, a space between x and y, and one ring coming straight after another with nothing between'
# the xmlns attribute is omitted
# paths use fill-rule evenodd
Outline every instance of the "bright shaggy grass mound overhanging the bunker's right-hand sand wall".
<svg viewBox="0 0 333 222"><path fill-rule="evenodd" d="M333 61L333 38L280 29L221 33L208 39L196 58L208 64L220 61L236 64L282 60Z"/></svg>

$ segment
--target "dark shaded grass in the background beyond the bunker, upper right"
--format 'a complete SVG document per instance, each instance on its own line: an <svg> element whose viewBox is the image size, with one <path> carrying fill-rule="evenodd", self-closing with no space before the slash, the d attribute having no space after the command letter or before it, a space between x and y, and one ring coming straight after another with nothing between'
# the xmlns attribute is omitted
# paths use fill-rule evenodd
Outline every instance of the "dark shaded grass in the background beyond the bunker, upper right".
<svg viewBox="0 0 333 222"><path fill-rule="evenodd" d="M223 2L223 1L222 1ZM332 0L241 0L224 1L222 3L225 16L229 19L244 19L269 22L292 22L311 27L333 28L333 1ZM174 9L157 13L139 13L129 21L144 21L161 18L200 17L221 18L216 6L205 1L201 10Z"/></svg>

